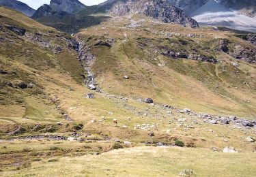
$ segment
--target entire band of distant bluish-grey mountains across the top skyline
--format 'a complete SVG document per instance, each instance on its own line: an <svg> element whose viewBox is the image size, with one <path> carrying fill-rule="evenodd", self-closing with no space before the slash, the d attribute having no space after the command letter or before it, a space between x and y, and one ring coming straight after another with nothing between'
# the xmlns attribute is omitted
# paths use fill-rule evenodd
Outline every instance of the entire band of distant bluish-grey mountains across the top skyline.
<svg viewBox="0 0 256 177"><path fill-rule="evenodd" d="M108 0L93 6L86 6L79 0L51 0L49 5L42 5L36 11L16 0L0 0L0 5L68 33L98 25L109 18L94 16L96 13L143 14L184 27L211 25L256 32L255 0Z"/></svg>

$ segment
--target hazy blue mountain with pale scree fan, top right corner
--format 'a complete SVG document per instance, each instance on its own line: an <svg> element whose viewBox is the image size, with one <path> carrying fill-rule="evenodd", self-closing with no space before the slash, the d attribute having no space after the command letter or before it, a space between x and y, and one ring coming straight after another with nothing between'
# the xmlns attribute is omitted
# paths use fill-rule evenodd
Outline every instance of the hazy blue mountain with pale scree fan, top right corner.
<svg viewBox="0 0 256 177"><path fill-rule="evenodd" d="M254 0L169 0L199 25L224 26L256 32Z"/></svg>

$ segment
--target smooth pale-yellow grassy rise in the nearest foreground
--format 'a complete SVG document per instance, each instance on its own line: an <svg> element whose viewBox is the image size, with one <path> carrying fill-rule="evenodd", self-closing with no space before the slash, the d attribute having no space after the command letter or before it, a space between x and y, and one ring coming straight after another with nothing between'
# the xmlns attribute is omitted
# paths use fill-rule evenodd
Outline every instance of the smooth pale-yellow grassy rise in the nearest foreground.
<svg viewBox="0 0 256 177"><path fill-rule="evenodd" d="M33 162L2 176L255 176L256 153L140 146Z"/></svg>

